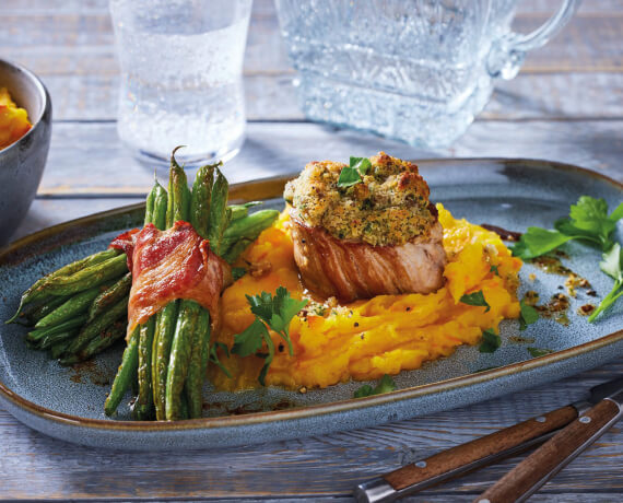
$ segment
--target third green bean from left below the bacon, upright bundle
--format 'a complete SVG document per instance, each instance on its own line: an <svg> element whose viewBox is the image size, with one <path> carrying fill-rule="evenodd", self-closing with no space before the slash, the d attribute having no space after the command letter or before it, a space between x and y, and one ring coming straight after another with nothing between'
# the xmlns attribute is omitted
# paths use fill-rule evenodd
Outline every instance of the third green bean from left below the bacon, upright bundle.
<svg viewBox="0 0 623 503"><path fill-rule="evenodd" d="M152 354L152 386L156 419L166 419L166 375L171 356L171 344L177 323L179 301L169 302L158 312L154 335L154 350Z"/></svg>

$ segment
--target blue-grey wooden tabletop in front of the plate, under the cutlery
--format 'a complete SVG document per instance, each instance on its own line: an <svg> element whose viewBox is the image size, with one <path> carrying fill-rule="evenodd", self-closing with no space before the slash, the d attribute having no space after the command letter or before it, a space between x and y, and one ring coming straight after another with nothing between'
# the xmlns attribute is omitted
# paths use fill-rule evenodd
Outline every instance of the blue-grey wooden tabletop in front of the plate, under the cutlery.
<svg viewBox="0 0 623 503"><path fill-rule="evenodd" d="M623 362L503 399L322 437L207 452L139 454L73 446L32 432L0 411L0 496L168 499L348 496L353 486L404 463L581 398L621 375ZM623 491L623 431L613 429L559 473L534 501L579 501ZM518 458L422 493L426 501L473 498ZM28 483L24 483L25 481ZM559 499L557 494L576 494ZM603 494L606 493L606 494ZM420 501L420 500L418 500ZM590 501L608 501L590 500Z"/></svg>

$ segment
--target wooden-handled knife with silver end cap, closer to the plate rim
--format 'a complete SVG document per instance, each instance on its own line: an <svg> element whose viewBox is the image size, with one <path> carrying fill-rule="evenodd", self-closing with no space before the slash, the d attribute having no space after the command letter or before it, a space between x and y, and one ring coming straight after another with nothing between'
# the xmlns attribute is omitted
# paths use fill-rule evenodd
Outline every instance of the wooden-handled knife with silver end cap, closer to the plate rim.
<svg viewBox="0 0 623 503"><path fill-rule="evenodd" d="M592 406L623 389L623 377L590 388L586 400L569 403L490 435L405 465L358 484L354 496L360 503L390 502L551 438Z"/></svg>

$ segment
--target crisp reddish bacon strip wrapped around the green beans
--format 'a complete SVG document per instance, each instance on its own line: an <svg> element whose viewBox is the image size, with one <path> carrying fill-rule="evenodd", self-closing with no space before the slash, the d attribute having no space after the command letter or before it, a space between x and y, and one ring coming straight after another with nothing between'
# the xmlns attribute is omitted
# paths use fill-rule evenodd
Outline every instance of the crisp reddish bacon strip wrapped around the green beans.
<svg viewBox="0 0 623 503"><path fill-rule="evenodd" d="M201 304L215 326L221 291L231 282L230 266L188 222L167 231L148 224L117 236L110 247L126 252L132 272L128 334L176 299Z"/></svg>

